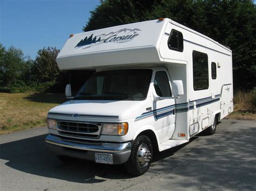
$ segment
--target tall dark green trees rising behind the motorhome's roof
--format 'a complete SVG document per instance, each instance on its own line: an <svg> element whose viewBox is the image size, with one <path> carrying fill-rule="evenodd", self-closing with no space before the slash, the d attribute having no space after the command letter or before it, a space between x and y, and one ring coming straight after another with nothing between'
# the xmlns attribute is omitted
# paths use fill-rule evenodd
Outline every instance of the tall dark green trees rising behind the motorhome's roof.
<svg viewBox="0 0 256 191"><path fill-rule="evenodd" d="M230 47L234 86L250 89L256 86L255 8L250 0L103 0L83 30L171 18Z"/></svg>

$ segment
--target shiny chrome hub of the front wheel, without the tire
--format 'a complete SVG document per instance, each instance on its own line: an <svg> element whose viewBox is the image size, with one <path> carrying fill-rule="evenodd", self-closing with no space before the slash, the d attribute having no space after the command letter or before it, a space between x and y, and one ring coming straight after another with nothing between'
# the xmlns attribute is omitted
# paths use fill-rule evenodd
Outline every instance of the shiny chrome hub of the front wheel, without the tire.
<svg viewBox="0 0 256 191"><path fill-rule="evenodd" d="M149 150L149 146L147 146L145 143L141 144L138 148L137 152L137 160L139 167L145 167L147 164L149 164L149 161L151 159L151 152Z"/></svg>

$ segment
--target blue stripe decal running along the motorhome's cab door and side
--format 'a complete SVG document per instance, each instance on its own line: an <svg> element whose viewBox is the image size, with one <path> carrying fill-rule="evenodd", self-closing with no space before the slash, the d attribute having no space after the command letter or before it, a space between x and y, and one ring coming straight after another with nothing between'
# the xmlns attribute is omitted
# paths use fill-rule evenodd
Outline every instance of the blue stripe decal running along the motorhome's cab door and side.
<svg viewBox="0 0 256 191"><path fill-rule="evenodd" d="M205 97L205 98L193 100L193 101L186 102L186 103L173 104L173 105L169 105L169 106L166 106L163 108L144 112L142 115L136 117L135 120L137 121L137 120L144 119L147 117L152 117L152 116L155 116L157 119L160 119L160 118L172 115L173 109L176 109L177 113L192 110L192 109L194 109L194 102L196 102L196 108L200 108L204 105L211 104L211 103L217 102L219 100L220 100L220 94L215 95L215 98Z"/></svg>

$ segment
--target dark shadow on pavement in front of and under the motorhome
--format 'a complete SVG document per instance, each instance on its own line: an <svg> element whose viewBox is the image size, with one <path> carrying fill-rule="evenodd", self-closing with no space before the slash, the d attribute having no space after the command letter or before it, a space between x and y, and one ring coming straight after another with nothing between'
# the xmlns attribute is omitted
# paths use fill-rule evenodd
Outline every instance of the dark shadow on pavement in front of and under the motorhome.
<svg viewBox="0 0 256 191"><path fill-rule="evenodd" d="M64 163L47 150L45 137L36 136L0 145L0 159L8 160L6 166L25 173L79 183L97 183L104 179L130 179L123 165L103 165L92 161L74 159ZM154 161L173 155L185 145L158 153ZM98 179L96 176L102 178Z"/></svg>

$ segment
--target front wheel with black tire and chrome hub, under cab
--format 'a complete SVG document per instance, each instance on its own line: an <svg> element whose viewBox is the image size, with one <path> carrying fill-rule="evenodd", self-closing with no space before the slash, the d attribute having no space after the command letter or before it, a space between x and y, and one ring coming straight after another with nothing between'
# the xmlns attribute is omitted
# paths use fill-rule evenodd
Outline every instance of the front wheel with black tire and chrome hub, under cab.
<svg viewBox="0 0 256 191"><path fill-rule="evenodd" d="M139 176L149 170L153 156L151 140L147 136L137 137L131 148L131 155L125 162L126 171Z"/></svg>

